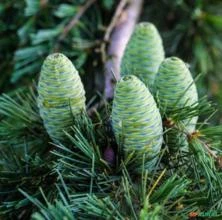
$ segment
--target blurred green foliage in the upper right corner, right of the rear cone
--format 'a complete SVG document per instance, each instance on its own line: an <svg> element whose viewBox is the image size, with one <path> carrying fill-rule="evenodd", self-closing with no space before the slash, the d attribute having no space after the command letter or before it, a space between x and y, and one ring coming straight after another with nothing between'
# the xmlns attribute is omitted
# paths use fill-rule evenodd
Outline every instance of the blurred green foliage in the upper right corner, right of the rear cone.
<svg viewBox="0 0 222 220"><path fill-rule="evenodd" d="M198 72L217 73L221 56L220 8L220 0L161 0L152 2L147 16L160 27L167 54L189 57Z"/></svg>

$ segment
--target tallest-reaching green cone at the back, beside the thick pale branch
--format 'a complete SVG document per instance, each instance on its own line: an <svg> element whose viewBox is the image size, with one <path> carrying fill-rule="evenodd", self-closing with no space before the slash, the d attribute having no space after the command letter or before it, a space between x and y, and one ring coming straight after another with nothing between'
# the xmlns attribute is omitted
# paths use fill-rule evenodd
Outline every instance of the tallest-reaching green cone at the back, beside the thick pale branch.
<svg viewBox="0 0 222 220"><path fill-rule="evenodd" d="M136 25L121 62L121 75L137 76L152 91L160 63L164 60L162 39L152 23Z"/></svg>

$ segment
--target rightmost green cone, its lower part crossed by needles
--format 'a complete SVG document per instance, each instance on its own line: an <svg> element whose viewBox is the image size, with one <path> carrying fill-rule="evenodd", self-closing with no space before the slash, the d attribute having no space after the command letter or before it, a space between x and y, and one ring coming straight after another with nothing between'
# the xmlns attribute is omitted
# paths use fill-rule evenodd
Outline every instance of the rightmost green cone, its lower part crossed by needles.
<svg viewBox="0 0 222 220"><path fill-rule="evenodd" d="M161 105L168 112L175 108L193 105L198 101L197 89L192 75L186 64L177 57L167 58L161 63L155 79L155 89L158 91ZM191 133L195 130L197 120L198 117L193 117L183 121L187 132ZM173 147L179 141L173 137L178 139L181 138L181 135L176 135L173 130L170 133L172 135L168 137L168 145ZM172 136L172 139L170 136ZM185 140L184 137L182 139ZM180 146L183 144L180 144Z"/></svg>

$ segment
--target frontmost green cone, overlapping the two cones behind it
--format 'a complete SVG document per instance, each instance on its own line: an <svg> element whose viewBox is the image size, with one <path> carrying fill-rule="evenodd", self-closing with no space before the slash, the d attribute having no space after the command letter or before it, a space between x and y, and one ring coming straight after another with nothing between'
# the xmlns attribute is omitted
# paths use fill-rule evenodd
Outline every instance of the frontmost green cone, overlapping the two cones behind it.
<svg viewBox="0 0 222 220"><path fill-rule="evenodd" d="M123 141L125 157L144 152L150 168L162 145L162 120L153 96L136 76L125 76L117 83L112 125L117 142Z"/></svg>

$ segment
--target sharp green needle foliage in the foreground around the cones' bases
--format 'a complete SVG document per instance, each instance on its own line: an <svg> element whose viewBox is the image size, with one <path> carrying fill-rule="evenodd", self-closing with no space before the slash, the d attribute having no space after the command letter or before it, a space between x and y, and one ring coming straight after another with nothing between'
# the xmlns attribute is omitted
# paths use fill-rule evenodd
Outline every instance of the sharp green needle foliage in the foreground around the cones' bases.
<svg viewBox="0 0 222 220"><path fill-rule="evenodd" d="M15 103L17 106L19 102L16 97L8 99L11 104L0 103L0 109L4 107L2 112L7 113L5 120L14 117L15 112L10 113L10 109L15 109ZM32 109L37 109L33 101L35 95L30 99L23 99L19 109L29 112L30 103ZM210 104L200 101L199 106L173 109L171 116L179 123L186 120L186 116L211 114ZM53 146L48 144L41 119L37 117L35 120L42 134L38 132L35 136L41 142L33 145L35 151L29 151L29 143L19 149L22 133L9 130L9 137L14 134L15 143L0 148L1 215L5 219L32 215L37 220L61 216L68 219L107 219L109 216L113 219L186 219L191 211L220 207L221 171L210 152L213 148L216 155L221 154L221 126L210 128L204 122L198 135L187 134L189 152L175 150L171 153L164 144L157 156L158 163L149 172L146 153L123 159L121 145L116 145L110 125L105 123L107 117L109 112L98 113L93 120L87 115L76 118L73 130L66 133L66 143ZM23 120L27 119L31 120L30 115L23 114ZM20 120L14 117L18 130L21 124L16 121ZM26 124L28 130L37 123L32 120L31 124ZM7 128L7 124L1 126ZM19 139L16 139L17 134ZM113 163L106 161L107 146L115 152ZM135 173L133 169L138 168L139 158L142 161L140 172Z"/></svg>

